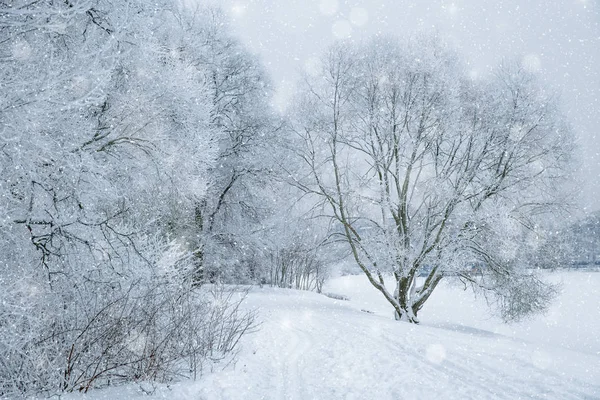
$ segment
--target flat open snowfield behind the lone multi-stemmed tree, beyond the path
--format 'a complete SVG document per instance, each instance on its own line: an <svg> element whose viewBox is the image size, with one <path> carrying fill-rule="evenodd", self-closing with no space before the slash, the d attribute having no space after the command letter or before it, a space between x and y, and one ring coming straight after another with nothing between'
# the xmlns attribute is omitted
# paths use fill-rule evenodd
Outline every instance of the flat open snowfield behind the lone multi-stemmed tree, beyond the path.
<svg viewBox="0 0 600 400"><path fill-rule="evenodd" d="M545 315L518 324L504 324L490 315L485 299L475 298L460 284L444 282L419 313L422 325L468 332L485 330L545 346L564 347L600 356L600 272L569 271L548 274L561 285L561 295ZM361 276L345 276L323 289L351 294L357 308L391 315L385 299L365 285Z"/></svg>

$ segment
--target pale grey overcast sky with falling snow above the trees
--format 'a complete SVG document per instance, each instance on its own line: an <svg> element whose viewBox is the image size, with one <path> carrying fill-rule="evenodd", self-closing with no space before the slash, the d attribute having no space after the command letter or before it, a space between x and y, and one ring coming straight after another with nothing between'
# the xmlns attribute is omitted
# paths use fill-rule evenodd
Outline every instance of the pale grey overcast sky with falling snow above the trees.
<svg viewBox="0 0 600 400"><path fill-rule="evenodd" d="M523 57L562 96L579 138L582 205L600 210L600 0L223 0L285 108L298 71L337 38L436 31L473 76Z"/></svg>

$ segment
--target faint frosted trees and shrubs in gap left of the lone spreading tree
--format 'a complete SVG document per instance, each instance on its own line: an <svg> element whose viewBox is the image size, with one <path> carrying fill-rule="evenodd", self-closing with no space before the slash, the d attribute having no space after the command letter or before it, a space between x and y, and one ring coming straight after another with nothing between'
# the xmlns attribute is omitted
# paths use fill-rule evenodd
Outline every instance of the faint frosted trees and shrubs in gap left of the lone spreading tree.
<svg viewBox="0 0 600 400"><path fill-rule="evenodd" d="M273 146L272 211L258 231L261 240L257 247L262 249L259 260L264 266L261 277L272 286L320 292L331 266L348 252L335 235L332 237L330 221L313 215L312 202L306 201L302 190L290 185L302 176L304 166L294 155L289 127L282 130L288 135L275 138Z"/></svg>

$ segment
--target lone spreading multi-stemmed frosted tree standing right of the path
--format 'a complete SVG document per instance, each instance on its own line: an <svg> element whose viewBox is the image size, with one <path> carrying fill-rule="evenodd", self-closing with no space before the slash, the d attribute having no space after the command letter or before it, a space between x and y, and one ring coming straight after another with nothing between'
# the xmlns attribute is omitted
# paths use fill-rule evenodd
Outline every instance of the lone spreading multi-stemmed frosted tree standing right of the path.
<svg viewBox="0 0 600 400"><path fill-rule="evenodd" d="M536 77L505 63L474 81L436 38L338 43L322 75L305 80L292 116L308 167L295 183L397 319L417 323L448 275L491 296L505 320L545 309L555 288L523 255L562 201L573 139ZM474 263L485 273L469 274Z"/></svg>

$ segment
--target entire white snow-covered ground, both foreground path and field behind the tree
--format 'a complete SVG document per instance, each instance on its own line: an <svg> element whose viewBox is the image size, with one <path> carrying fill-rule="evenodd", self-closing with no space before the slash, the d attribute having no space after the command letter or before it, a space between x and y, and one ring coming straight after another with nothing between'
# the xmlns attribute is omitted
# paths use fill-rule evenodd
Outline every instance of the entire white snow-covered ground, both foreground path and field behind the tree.
<svg viewBox="0 0 600 400"><path fill-rule="evenodd" d="M362 276L326 285L349 301L256 288L246 307L259 311L261 327L243 339L238 361L198 382L159 387L153 397L600 399L600 273L551 279L564 290L550 312L512 325L450 284L438 288L418 326L394 321ZM138 397L148 398L134 385L85 396Z"/></svg>

